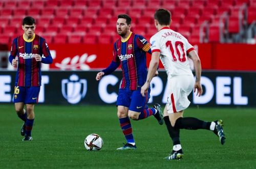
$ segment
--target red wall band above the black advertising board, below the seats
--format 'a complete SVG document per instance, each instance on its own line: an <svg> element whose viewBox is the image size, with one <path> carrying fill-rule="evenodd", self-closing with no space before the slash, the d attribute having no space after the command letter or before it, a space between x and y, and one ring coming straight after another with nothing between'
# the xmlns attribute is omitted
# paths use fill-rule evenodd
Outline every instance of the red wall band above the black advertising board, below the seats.
<svg viewBox="0 0 256 169"><path fill-rule="evenodd" d="M95 70L112 60L111 44L49 44L54 62L44 70ZM204 70L256 71L256 45L205 43L194 45ZM0 45L0 68L14 70L8 62L10 46ZM147 63L150 62L148 54ZM160 65L160 69L163 68Z"/></svg>

